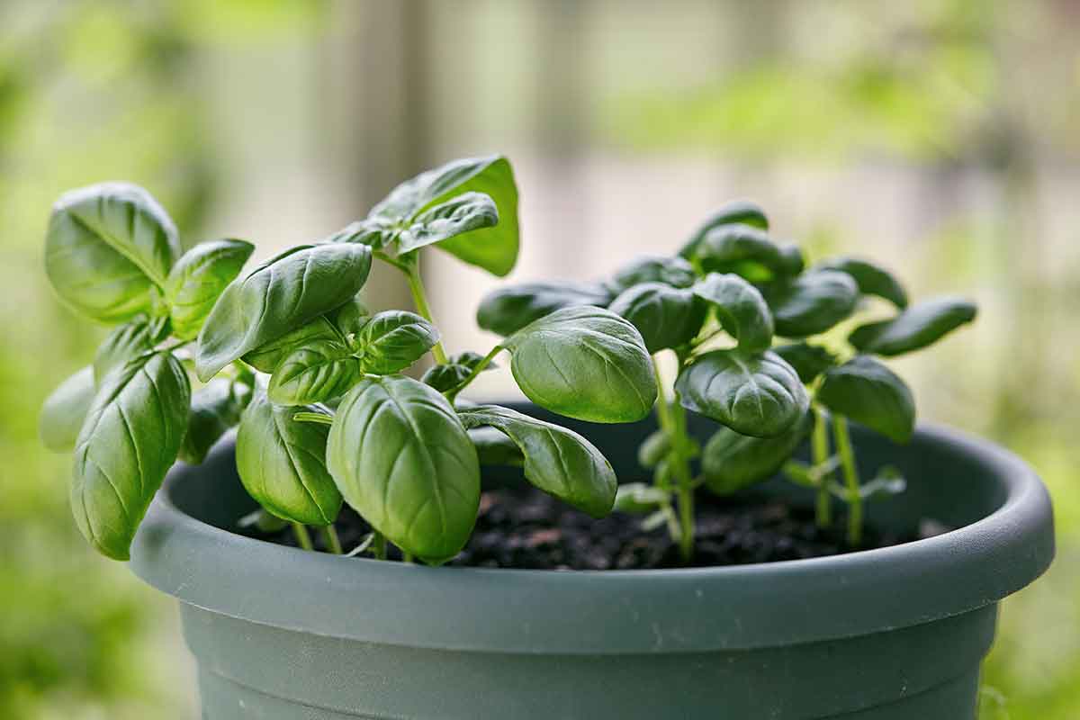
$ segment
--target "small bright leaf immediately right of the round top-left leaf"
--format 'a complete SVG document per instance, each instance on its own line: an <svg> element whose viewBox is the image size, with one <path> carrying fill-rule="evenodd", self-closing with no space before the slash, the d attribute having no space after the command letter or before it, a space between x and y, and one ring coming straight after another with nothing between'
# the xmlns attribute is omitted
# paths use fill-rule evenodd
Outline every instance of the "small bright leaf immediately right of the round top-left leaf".
<svg viewBox="0 0 1080 720"><path fill-rule="evenodd" d="M240 274L255 246L242 240L199 243L173 266L165 283L165 301L173 335L192 340L199 335L218 296Z"/></svg>

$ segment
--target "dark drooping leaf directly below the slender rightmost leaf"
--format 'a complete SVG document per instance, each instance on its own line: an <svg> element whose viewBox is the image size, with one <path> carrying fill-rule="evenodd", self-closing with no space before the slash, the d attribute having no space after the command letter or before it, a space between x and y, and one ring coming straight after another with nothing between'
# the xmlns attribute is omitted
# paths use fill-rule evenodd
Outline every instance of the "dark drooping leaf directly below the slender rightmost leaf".
<svg viewBox="0 0 1080 720"><path fill-rule="evenodd" d="M818 400L896 443L915 432L915 398L900 377L868 355L825 372Z"/></svg>

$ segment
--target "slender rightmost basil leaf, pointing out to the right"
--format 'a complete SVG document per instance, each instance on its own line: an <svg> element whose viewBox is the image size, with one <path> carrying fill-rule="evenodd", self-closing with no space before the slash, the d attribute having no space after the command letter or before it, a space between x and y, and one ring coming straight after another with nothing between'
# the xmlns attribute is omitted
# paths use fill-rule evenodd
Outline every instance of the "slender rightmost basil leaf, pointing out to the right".
<svg viewBox="0 0 1080 720"><path fill-rule="evenodd" d="M877 355L901 355L933 344L975 320L975 303L962 298L935 298L908 308L892 320L856 327L848 341L856 350Z"/></svg>

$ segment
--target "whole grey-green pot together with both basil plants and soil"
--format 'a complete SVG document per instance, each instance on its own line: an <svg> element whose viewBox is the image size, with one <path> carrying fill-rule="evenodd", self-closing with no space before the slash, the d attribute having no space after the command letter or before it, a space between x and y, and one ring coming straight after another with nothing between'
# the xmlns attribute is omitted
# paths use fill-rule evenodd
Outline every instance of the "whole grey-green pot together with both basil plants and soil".
<svg viewBox="0 0 1080 720"><path fill-rule="evenodd" d="M740 203L611 280L500 289L478 322L502 339L448 354L427 246L512 270L507 159L423 173L251 270L244 241L181 252L130 185L53 208L57 296L113 329L41 435L73 450L87 541L180 601L203 717L974 717L997 603L1053 556L1049 500L1008 452L915 429L878 359L970 303L907 307L865 260L806 269ZM376 261L416 312L368 311ZM860 322L870 296L894 316ZM531 403L460 397L505 356ZM716 567L706 525L761 503L836 546ZM555 520L534 549L630 528L672 548L638 567L667 569L460 567L549 521L537 507ZM948 531L913 535L927 519Z"/></svg>

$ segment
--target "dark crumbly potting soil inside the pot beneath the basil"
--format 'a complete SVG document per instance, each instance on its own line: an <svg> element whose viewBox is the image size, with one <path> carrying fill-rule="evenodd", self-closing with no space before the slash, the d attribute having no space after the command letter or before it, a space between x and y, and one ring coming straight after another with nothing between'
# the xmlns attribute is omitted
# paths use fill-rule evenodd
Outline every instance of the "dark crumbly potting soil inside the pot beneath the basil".
<svg viewBox="0 0 1080 720"><path fill-rule="evenodd" d="M850 552L842 518L835 529L821 530L813 512L779 502L718 499L699 493L697 535L690 567L774 562ZM490 490L481 498L472 539L447 565L538 570L631 570L687 567L666 527L642 529L643 516L612 513L594 519L539 490ZM336 524L346 552L361 543L369 527L348 506ZM313 529L314 530L314 529ZM296 545L292 530L271 535L247 533ZM322 533L312 532L322 548ZM917 540L864 529L859 549ZM368 555L369 557L369 555ZM390 557L400 559L396 548Z"/></svg>

